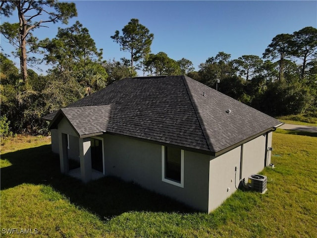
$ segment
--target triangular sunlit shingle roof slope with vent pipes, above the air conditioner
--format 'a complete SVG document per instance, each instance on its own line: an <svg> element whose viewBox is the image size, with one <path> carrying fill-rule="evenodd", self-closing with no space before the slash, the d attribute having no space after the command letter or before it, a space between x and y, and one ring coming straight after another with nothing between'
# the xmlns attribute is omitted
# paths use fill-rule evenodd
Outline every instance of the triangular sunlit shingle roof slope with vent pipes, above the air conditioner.
<svg viewBox="0 0 317 238"><path fill-rule="evenodd" d="M211 151L220 151L281 123L189 77L185 76L185 82Z"/></svg>

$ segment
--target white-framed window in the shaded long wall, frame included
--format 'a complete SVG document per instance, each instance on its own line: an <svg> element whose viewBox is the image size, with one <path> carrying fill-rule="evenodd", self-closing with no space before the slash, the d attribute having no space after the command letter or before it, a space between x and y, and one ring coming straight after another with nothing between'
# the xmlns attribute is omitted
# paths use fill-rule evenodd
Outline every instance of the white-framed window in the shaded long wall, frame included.
<svg viewBox="0 0 317 238"><path fill-rule="evenodd" d="M162 146L162 181L184 187L184 150Z"/></svg>

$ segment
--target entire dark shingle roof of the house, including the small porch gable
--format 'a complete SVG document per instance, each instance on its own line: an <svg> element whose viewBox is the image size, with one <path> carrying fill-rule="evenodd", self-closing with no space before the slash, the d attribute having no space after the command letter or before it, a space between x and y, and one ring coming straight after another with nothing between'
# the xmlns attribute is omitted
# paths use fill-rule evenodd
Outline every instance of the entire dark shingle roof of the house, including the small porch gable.
<svg viewBox="0 0 317 238"><path fill-rule="evenodd" d="M81 137L112 132L211 154L280 124L186 76L122 79L60 114ZM45 117L50 128L57 115Z"/></svg>

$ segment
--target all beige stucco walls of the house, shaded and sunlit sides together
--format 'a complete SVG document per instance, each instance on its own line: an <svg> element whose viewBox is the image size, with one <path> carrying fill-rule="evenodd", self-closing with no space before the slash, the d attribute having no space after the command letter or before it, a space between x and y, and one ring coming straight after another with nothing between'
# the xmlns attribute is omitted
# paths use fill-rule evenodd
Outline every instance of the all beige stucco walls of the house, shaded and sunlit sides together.
<svg viewBox="0 0 317 238"><path fill-rule="evenodd" d="M58 141L61 133L70 135L71 151L67 152L68 156L79 158L79 150L83 150L81 164L85 164L85 167L82 167L85 171L82 174L85 175L83 180L88 180L91 177L88 171L91 170L91 164L86 163L91 163L91 160L85 155L84 142L89 139L79 141L68 121L62 119L58 129L52 130L52 150L55 153L61 147L61 141ZM240 182L240 168L242 179L246 181L251 174L259 173L264 168L266 134L215 158L184 151L184 187L179 187L162 181L160 144L121 135L104 134L98 137L104 139L105 175L134 181L144 188L205 212L213 211L236 191L235 185L238 187ZM271 146L271 138L272 133L268 133L267 147ZM85 148L79 148L79 142ZM59 151L59 154L63 154L62 151ZM88 160L84 160L84 157ZM61 171L66 172L67 165L62 165L62 162L63 160ZM270 152L267 152L267 164L269 163Z"/></svg>

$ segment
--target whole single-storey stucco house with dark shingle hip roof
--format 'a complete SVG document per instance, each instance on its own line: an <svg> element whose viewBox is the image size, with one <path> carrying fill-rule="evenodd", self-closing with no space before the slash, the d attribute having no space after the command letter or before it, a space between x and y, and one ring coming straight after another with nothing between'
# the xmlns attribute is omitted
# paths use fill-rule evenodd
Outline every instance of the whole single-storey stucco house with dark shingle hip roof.
<svg viewBox="0 0 317 238"><path fill-rule="evenodd" d="M187 76L126 78L44 117L60 170L116 176L211 212L270 164L282 123Z"/></svg>

